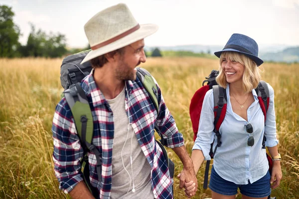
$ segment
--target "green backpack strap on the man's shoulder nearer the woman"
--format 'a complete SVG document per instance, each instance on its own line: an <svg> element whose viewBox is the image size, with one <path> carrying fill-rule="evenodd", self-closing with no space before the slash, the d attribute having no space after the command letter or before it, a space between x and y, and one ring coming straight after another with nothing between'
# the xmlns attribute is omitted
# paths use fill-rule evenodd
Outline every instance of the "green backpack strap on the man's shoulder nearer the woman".
<svg viewBox="0 0 299 199"><path fill-rule="evenodd" d="M149 93L149 98L153 102L153 105L158 114L159 112L158 92L152 76L150 75L149 71L147 71L144 68L138 68L136 75L138 76L138 79L140 80L140 82L143 84L143 86Z"/></svg>

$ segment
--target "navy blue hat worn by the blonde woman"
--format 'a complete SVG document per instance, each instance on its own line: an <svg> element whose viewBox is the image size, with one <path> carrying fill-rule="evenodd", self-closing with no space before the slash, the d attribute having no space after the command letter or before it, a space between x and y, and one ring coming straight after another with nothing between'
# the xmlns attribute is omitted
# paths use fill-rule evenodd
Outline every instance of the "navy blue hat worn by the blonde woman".
<svg viewBox="0 0 299 199"><path fill-rule="evenodd" d="M258 66L264 63L263 60L258 58L259 46L257 42L244 34L233 34L223 50L214 52L214 54L220 58L221 53L225 51L242 53L252 59Z"/></svg>

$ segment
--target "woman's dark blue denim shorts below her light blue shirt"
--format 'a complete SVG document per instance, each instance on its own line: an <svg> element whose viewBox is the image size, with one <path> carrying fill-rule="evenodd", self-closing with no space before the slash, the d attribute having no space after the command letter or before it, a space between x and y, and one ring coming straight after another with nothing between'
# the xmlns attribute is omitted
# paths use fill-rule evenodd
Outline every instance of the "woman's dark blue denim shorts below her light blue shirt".
<svg viewBox="0 0 299 199"><path fill-rule="evenodd" d="M221 178L212 167L209 188L213 192L227 196L236 195L239 188L242 195L263 198L271 194L270 178L268 171L263 178L252 184L249 182L247 185L237 185Z"/></svg>

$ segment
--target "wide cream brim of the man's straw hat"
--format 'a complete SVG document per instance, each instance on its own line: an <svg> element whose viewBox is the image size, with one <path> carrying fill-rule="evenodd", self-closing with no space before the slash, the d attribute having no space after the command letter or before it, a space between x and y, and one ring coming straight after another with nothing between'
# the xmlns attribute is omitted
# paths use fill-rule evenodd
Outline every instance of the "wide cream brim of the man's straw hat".
<svg viewBox="0 0 299 199"><path fill-rule="evenodd" d="M156 24L142 24L140 28L131 34L116 40L106 46L103 46L96 50L91 50L86 57L82 60L81 64L98 57L100 55L104 55L105 53L109 53L111 51L117 50L124 46L130 45L136 41L146 38L147 36L153 34L158 30L158 26Z"/></svg>

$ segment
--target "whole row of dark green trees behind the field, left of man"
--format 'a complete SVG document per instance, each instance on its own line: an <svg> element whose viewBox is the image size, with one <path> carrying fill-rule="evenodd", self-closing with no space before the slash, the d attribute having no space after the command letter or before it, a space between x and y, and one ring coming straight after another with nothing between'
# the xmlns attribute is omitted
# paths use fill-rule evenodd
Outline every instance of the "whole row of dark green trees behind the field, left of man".
<svg viewBox="0 0 299 199"><path fill-rule="evenodd" d="M14 12L6 5L0 5L0 57L60 57L67 53L66 37L60 33L31 31L26 45L19 43L20 28L13 22Z"/></svg>

